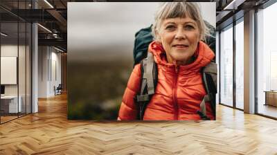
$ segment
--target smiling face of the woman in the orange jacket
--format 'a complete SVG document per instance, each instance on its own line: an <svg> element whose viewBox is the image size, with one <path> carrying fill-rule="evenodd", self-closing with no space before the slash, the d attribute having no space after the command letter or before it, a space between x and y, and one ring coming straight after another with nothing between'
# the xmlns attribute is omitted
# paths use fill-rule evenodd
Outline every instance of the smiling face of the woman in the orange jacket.
<svg viewBox="0 0 277 155"><path fill-rule="evenodd" d="M199 28L190 17L165 19L158 31L158 40L166 51L168 62L189 64L199 42Z"/></svg>

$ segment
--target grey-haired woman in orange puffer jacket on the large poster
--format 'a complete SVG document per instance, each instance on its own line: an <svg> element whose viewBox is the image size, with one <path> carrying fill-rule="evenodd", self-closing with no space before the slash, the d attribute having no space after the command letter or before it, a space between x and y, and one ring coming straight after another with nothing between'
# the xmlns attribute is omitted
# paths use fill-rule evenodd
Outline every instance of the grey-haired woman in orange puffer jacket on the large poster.
<svg viewBox="0 0 277 155"><path fill-rule="evenodd" d="M154 41L148 52L157 63L158 82L143 120L200 120L197 113L206 91L201 69L209 64L213 51L202 40L208 28L195 3L164 3L152 26ZM118 120L135 120L134 100L140 91L141 64L132 71L123 95ZM215 119L206 102L206 115Z"/></svg>

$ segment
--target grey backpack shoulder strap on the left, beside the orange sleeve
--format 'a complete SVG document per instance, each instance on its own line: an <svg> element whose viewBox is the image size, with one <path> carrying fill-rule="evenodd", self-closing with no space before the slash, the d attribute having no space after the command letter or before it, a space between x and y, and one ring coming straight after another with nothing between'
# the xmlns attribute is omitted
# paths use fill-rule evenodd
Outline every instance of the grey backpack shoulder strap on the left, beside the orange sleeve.
<svg viewBox="0 0 277 155"><path fill-rule="evenodd" d="M136 95L136 102L139 104L139 119L143 120L144 111L155 93L157 86L157 64L154 62L152 53L141 61L141 91Z"/></svg>

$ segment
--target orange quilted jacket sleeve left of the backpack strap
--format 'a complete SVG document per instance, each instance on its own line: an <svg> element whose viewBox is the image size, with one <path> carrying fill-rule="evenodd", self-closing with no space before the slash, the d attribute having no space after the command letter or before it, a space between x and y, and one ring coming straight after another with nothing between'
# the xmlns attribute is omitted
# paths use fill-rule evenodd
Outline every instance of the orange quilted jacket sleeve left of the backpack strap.
<svg viewBox="0 0 277 155"><path fill-rule="evenodd" d="M137 107L134 97L141 89L141 64L134 66L120 105L118 120L136 120Z"/></svg>

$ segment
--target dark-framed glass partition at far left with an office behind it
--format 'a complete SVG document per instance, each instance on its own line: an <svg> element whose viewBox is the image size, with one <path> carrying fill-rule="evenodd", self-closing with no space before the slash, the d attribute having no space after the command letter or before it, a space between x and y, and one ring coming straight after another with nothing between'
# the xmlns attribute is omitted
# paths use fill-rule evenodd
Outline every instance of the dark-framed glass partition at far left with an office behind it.
<svg viewBox="0 0 277 155"><path fill-rule="evenodd" d="M1 1L0 4L8 1ZM13 1L12 9L27 9L31 1ZM0 123L25 116L31 112L31 24L24 19L8 16L10 12L0 8L0 15L9 18L0 20ZM8 61L7 61L8 60ZM15 72L7 75L4 69L15 66ZM13 69L12 67L10 69ZM10 70L12 72L12 70ZM11 80L12 79L12 80ZM7 81L8 80L8 81ZM12 81L12 82L9 82Z"/></svg>

